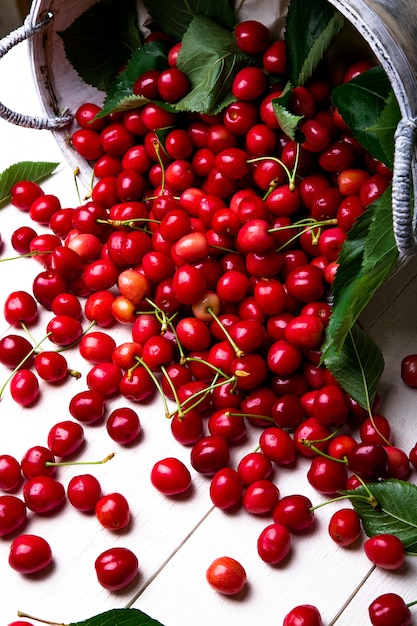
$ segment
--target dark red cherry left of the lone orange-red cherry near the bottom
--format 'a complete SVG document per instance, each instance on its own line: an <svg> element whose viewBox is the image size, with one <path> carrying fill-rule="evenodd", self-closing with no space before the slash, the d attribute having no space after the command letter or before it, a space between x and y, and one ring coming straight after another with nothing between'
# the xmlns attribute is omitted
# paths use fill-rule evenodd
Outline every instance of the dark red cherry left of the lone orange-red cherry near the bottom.
<svg viewBox="0 0 417 626"><path fill-rule="evenodd" d="M115 547L102 552L95 560L97 580L109 591L125 589L138 574L139 561L128 548Z"/></svg>

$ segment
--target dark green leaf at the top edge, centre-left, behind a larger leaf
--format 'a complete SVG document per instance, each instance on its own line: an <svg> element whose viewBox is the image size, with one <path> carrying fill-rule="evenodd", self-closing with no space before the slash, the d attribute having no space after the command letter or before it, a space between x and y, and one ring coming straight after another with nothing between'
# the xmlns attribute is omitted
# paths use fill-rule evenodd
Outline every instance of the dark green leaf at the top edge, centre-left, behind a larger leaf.
<svg viewBox="0 0 417 626"><path fill-rule="evenodd" d="M209 17L229 31L235 25L233 6L229 0L145 0L144 4L158 26L178 41L197 15Z"/></svg>

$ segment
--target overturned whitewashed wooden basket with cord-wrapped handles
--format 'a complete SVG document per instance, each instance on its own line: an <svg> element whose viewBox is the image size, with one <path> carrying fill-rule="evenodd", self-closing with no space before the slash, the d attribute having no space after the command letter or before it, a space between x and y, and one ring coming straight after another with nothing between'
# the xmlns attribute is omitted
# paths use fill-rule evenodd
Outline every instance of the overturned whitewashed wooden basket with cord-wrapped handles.
<svg viewBox="0 0 417 626"><path fill-rule="evenodd" d="M412 206L412 188L417 188L417 57L414 42L417 35L417 15L407 0L329 0L355 27L384 68L396 95L402 119L395 136L393 175L393 224L400 256L417 251L417 224ZM84 181L91 178L91 166L80 162L69 137L73 130L73 115L82 102L102 104L105 94L87 85L68 62L63 43L57 33L64 31L81 13L97 0L35 0L23 26L0 42L0 58L14 45L28 39L34 76L45 117L34 118L11 111L0 104L0 116L21 126L50 129L65 159L74 169L80 169ZM249 17L264 21L268 26L282 28L288 0L268 0L242 4L238 19ZM146 11L138 3L139 21Z"/></svg>

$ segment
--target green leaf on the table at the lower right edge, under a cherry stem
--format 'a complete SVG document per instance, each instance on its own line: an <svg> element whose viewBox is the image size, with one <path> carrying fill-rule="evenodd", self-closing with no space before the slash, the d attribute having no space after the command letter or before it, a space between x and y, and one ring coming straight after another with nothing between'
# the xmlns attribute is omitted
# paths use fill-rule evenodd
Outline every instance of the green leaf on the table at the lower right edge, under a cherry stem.
<svg viewBox="0 0 417 626"><path fill-rule="evenodd" d="M368 490L377 500L376 508L369 501L357 497L369 495ZM359 514L368 537L390 533L401 539L408 552L417 551L416 485L389 479L343 493Z"/></svg>

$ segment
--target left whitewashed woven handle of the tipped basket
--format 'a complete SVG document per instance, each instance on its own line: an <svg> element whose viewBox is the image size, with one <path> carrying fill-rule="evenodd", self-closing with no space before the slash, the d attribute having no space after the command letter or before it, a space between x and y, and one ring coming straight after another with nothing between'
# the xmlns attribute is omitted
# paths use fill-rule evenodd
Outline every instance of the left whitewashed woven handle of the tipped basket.
<svg viewBox="0 0 417 626"><path fill-rule="evenodd" d="M11 50L11 48L13 48L15 45L17 45L21 41L25 41L26 39L33 37L33 35L45 28L52 19L53 14L48 13L47 16L40 22L38 22L37 24L32 24L30 21L30 16L28 16L22 26L19 26L19 28L16 28L16 30L12 31L0 40L0 59L2 59L4 55L9 52L9 50ZM62 113L62 115L54 117L32 117L30 115L16 113L15 111L8 109L1 102L0 118L6 120L7 122L11 122L12 124L16 124L17 126L35 128L39 130L56 130L67 126L72 121L72 115L69 109L66 109Z"/></svg>

